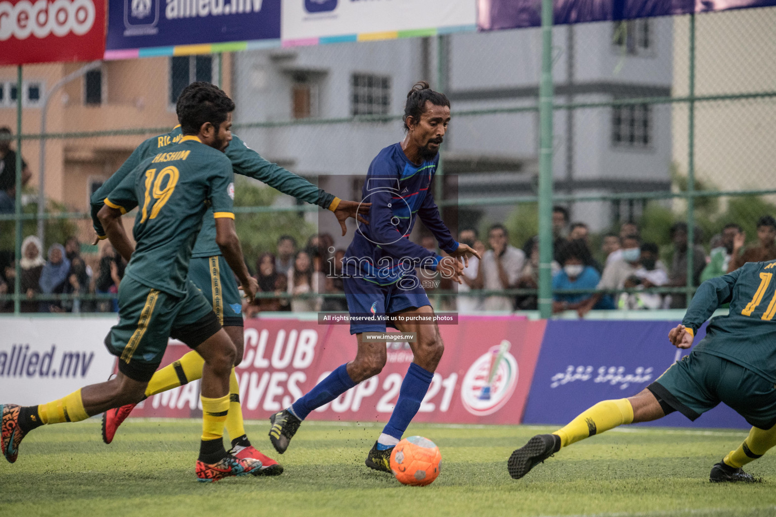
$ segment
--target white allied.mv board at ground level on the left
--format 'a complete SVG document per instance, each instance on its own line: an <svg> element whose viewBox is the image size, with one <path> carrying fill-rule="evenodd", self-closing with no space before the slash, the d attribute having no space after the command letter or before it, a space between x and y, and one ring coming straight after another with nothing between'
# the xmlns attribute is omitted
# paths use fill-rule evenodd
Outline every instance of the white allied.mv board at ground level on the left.
<svg viewBox="0 0 776 517"><path fill-rule="evenodd" d="M2 402L41 404L104 382L115 357L103 339L113 318L2 318Z"/></svg>

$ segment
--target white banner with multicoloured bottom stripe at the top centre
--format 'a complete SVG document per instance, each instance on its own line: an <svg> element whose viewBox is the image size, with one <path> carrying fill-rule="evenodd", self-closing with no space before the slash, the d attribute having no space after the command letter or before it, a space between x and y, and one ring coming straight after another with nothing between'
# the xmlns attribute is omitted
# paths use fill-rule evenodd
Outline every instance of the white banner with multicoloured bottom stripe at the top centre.
<svg viewBox="0 0 776 517"><path fill-rule="evenodd" d="M284 45L430 36L476 23L472 0L295 0L282 9Z"/></svg>

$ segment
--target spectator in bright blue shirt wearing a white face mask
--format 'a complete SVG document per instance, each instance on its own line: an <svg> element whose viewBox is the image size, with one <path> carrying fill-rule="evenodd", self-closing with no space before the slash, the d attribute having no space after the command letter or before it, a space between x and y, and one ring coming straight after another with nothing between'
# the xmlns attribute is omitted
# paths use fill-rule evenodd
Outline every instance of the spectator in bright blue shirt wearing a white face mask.
<svg viewBox="0 0 776 517"><path fill-rule="evenodd" d="M590 250L583 240L571 240L558 250L563 269L553 275L553 291L594 289L601 275L590 265ZM553 295L553 312L576 310L593 297L591 293Z"/></svg>

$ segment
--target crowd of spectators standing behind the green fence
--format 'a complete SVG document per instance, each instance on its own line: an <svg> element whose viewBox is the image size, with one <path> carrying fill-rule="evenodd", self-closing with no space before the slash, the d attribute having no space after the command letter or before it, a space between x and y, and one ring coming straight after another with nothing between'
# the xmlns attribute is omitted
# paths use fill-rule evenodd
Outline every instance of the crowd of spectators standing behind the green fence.
<svg viewBox="0 0 776 517"><path fill-rule="evenodd" d="M674 223L669 237L670 253L663 253L670 257L666 263L660 260L659 246L644 242L634 222L623 222L617 233L601 236L600 248L594 251L588 226L584 222L570 224L566 209L556 206L551 264L553 312L576 311L581 317L597 309L684 308L687 291L683 288L688 285L688 274L692 275L692 284L698 286L746 262L776 259L776 219L771 215L757 221L757 240L749 245L741 227L734 223L712 236L708 253L700 229L695 229L695 243L689 243L684 222ZM459 294L454 300L444 298L440 309L470 314L537 308L537 236L518 248L510 244L508 229L494 224L483 239L476 229L461 229L459 242L473 247L482 259L469 258L462 284L456 284ZM431 237L422 237L420 243L435 250ZM693 253L688 265L690 246ZM244 314L346 311L341 277L344 256L345 250L335 249L328 233L311 236L303 247L293 236L281 236L275 250L262 253L252 264L246 261L255 272L259 295L254 302L244 303ZM12 254L0 252L0 295L13 292L15 266ZM115 312L124 267L126 263L107 241L100 243L98 253L82 257L81 243L75 237L44 250L36 236L28 236L19 258L20 292L24 297L21 310ZM418 276L421 281L432 280L424 282L430 295L436 289L454 287L436 274L419 271ZM0 312L12 310L9 299L0 300Z"/></svg>

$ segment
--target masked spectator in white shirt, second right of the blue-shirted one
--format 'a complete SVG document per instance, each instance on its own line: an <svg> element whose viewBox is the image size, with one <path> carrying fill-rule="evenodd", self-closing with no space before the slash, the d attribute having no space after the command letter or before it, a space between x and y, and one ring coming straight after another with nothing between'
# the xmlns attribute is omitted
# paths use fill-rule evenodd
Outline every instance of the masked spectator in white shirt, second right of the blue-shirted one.
<svg viewBox="0 0 776 517"><path fill-rule="evenodd" d="M643 243L639 257L641 267L625 280L623 287L628 289L648 289L667 284L668 274L663 263L657 260L658 256L659 249L656 243ZM663 295L658 293L622 293L619 297L617 308L628 310L668 308L669 302L670 297L663 299Z"/></svg>

